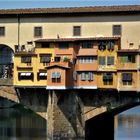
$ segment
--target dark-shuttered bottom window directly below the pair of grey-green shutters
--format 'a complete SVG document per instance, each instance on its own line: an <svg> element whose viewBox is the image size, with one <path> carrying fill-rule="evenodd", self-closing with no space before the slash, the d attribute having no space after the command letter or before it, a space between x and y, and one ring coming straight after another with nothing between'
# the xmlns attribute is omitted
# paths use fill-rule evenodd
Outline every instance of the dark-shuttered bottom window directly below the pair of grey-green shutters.
<svg viewBox="0 0 140 140"><path fill-rule="evenodd" d="M104 85L113 85L113 74L104 73L103 74L103 83L104 83Z"/></svg>

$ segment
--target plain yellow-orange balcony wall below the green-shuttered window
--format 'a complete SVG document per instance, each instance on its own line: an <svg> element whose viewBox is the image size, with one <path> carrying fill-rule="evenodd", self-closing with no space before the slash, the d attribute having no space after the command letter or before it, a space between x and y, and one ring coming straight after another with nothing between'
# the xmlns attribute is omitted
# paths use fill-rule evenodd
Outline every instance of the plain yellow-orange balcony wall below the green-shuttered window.
<svg viewBox="0 0 140 140"><path fill-rule="evenodd" d="M136 63L118 63L117 64L118 70L137 70Z"/></svg>

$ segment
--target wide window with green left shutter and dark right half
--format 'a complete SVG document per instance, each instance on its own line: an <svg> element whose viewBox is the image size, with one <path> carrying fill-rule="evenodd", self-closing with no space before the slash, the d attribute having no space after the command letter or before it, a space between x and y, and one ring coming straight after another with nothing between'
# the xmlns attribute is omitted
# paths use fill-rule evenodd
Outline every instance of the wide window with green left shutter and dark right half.
<svg viewBox="0 0 140 140"><path fill-rule="evenodd" d="M121 56L120 59L122 63L128 63L128 62L135 63L136 62L135 55Z"/></svg>

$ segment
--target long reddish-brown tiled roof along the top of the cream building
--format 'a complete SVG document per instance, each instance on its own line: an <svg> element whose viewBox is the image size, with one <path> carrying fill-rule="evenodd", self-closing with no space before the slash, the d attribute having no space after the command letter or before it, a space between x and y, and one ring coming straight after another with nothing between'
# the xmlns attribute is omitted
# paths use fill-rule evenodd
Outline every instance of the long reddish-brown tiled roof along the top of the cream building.
<svg viewBox="0 0 140 140"><path fill-rule="evenodd" d="M17 14L71 14L71 13L112 13L112 12L140 12L140 5L126 6L95 6L70 8L31 8L31 9L1 9L0 15Z"/></svg>

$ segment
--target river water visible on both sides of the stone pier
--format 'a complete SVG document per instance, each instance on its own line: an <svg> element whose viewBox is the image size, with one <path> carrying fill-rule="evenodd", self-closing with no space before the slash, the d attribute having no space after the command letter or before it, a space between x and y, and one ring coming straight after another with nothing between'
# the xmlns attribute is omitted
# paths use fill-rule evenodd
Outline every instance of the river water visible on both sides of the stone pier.
<svg viewBox="0 0 140 140"><path fill-rule="evenodd" d="M0 140L46 140L46 124L23 106L0 109ZM140 140L140 106L115 117L114 140Z"/></svg>

